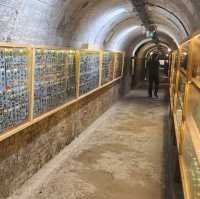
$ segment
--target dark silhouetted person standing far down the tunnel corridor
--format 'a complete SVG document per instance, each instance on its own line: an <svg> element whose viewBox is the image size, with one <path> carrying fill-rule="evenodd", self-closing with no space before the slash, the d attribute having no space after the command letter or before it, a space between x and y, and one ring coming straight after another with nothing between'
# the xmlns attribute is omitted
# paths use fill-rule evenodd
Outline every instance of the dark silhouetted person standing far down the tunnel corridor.
<svg viewBox="0 0 200 199"><path fill-rule="evenodd" d="M148 74L149 74L149 97L152 97L153 92L153 85L154 88L154 96L158 98L158 90L159 90L159 84L160 84L160 78L159 78L159 69L160 63L159 63L159 54L154 53L151 55L149 61L148 61Z"/></svg>

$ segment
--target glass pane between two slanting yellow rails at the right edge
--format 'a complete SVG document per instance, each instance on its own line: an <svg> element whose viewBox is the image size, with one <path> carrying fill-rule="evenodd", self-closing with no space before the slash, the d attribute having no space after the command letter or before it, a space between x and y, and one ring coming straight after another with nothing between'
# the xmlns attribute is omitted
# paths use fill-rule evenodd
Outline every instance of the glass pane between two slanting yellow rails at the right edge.
<svg viewBox="0 0 200 199"><path fill-rule="evenodd" d="M193 85L189 92L189 115L200 130L200 91Z"/></svg>

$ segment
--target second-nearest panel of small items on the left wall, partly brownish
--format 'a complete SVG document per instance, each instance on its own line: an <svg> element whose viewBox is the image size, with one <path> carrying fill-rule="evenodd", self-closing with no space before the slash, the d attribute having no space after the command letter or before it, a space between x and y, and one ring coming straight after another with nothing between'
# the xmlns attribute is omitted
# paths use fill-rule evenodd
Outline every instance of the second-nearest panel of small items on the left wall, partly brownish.
<svg viewBox="0 0 200 199"><path fill-rule="evenodd" d="M35 50L34 117L75 96L75 52Z"/></svg>

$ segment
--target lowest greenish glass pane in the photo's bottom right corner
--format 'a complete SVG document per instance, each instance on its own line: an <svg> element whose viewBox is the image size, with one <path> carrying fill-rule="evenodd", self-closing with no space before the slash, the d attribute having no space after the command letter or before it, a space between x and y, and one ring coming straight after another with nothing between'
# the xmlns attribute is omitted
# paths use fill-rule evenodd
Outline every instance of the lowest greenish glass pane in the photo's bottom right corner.
<svg viewBox="0 0 200 199"><path fill-rule="evenodd" d="M191 134L185 131L185 139L183 143L183 158L186 170L186 180L189 185L190 198L200 198L200 163L195 151L195 146L191 139Z"/></svg>

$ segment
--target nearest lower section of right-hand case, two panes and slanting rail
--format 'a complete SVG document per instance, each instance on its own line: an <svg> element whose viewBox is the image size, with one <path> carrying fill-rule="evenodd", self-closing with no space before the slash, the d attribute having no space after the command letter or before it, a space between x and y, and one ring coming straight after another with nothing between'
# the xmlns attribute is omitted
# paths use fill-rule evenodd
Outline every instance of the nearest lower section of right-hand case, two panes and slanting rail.
<svg viewBox="0 0 200 199"><path fill-rule="evenodd" d="M189 84L182 143L182 172L186 198L200 197L200 88Z"/></svg>

